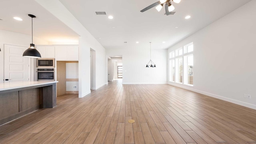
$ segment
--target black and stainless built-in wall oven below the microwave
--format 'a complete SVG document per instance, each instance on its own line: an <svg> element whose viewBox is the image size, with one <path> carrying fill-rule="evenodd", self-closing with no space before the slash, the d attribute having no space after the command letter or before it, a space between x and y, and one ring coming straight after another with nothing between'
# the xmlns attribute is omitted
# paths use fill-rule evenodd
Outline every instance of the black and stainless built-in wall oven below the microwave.
<svg viewBox="0 0 256 144"><path fill-rule="evenodd" d="M55 68L36 68L37 81L55 81Z"/></svg>

